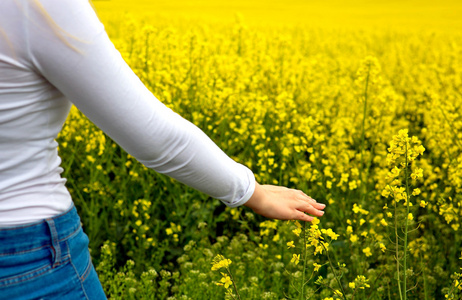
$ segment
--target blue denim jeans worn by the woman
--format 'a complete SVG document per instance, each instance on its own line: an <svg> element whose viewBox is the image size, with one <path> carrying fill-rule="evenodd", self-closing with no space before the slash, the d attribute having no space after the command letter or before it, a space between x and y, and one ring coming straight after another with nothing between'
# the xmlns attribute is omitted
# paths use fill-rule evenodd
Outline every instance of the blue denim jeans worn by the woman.
<svg viewBox="0 0 462 300"><path fill-rule="evenodd" d="M106 299L74 205L56 217L0 228L1 299Z"/></svg>

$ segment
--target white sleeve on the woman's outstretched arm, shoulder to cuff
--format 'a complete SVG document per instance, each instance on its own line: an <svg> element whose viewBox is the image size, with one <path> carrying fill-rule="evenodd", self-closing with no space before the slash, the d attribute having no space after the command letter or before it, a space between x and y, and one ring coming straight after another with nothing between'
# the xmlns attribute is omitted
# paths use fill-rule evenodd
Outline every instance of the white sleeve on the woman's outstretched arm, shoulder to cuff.
<svg viewBox="0 0 462 300"><path fill-rule="evenodd" d="M86 0L24 1L32 65L145 166L221 200L244 204L253 173L162 104L125 63Z"/></svg>

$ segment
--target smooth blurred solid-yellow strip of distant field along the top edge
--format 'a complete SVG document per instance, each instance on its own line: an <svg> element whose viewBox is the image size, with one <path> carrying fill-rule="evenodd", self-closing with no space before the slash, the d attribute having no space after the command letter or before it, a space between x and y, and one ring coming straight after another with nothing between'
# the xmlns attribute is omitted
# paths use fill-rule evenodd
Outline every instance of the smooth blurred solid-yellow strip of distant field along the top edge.
<svg viewBox="0 0 462 300"><path fill-rule="evenodd" d="M400 30L460 30L460 1L94 1L100 16L130 12L137 16L193 19L203 22L233 22L241 14L252 26L309 25L333 28ZM151 21L156 23L154 18Z"/></svg>

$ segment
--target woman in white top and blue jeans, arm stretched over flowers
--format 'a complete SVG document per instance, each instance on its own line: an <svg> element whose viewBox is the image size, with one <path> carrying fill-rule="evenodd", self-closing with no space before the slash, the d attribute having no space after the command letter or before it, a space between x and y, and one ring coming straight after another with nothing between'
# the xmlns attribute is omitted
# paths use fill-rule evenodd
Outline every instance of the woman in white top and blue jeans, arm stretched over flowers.
<svg viewBox="0 0 462 300"><path fill-rule="evenodd" d="M311 221L324 205L260 185L130 70L88 0L0 1L0 298L105 299L60 174L71 105L141 163L230 207Z"/></svg>

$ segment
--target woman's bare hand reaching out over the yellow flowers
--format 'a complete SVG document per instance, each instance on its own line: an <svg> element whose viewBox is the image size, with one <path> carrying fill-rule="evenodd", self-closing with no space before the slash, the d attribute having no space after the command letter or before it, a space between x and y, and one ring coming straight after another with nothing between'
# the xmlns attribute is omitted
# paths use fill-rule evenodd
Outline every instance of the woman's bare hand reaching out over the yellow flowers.
<svg viewBox="0 0 462 300"><path fill-rule="evenodd" d="M256 182L255 192L245 206L271 219L300 220L311 222L314 217L324 215L326 205L304 192L274 185L260 185ZM310 215L307 215L308 213Z"/></svg>

